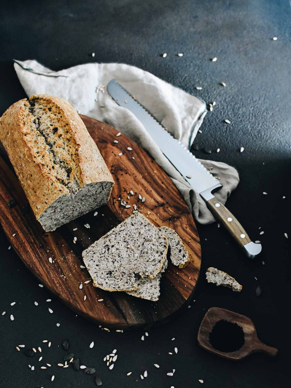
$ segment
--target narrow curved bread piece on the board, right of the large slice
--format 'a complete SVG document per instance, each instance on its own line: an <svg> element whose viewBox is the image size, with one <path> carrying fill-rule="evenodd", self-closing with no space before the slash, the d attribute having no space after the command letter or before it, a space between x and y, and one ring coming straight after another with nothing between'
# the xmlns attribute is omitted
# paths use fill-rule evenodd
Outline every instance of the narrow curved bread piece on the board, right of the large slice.
<svg viewBox="0 0 291 388"><path fill-rule="evenodd" d="M167 237L169 244L169 257L174 265L183 268L189 261L189 254L183 241L174 229L161 226L159 230Z"/></svg>

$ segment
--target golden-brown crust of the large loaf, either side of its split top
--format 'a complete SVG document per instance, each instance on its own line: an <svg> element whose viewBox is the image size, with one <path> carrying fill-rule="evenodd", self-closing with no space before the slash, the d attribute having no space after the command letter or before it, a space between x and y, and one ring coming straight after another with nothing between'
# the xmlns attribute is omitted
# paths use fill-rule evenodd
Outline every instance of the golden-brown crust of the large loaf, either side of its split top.
<svg viewBox="0 0 291 388"><path fill-rule="evenodd" d="M36 99L46 106L56 105L61 112L60 120L66 119L68 122L67 129L76 143L78 158L77 166L71 163L71 167L79 169L76 174L80 178L80 188L88 183L104 181L112 182L113 185L114 181L82 119L68 102L45 94L31 96L30 100L20 100L0 118L0 141L38 219L59 197L68 195L69 189L35 160L34 144L27 140L30 124L26 117L31 102Z"/></svg>

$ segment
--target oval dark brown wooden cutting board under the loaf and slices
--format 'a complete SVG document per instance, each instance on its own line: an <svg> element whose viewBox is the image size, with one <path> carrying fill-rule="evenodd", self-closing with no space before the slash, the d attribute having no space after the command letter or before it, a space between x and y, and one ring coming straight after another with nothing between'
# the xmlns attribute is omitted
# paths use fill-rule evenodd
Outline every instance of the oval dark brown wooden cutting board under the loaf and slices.
<svg viewBox="0 0 291 388"><path fill-rule="evenodd" d="M55 232L46 233L36 221L13 168L3 155L6 161L0 158L0 222L21 260L70 308L105 327L150 326L172 316L192 296L201 263L197 228L171 179L145 151L123 134L116 137L117 131L113 127L81 117L115 181L108 204L99 208L96 216L94 211L90 212ZM118 155L120 152L122 156ZM128 194L130 190L133 190L133 196ZM138 194L146 201L142 203ZM183 269L169 265L162 276L158 302L123 292L110 293L93 287L91 281L85 283L90 276L86 269L80 268L82 251L132 214L133 207L126 209L118 198L136 204L156 226L175 229L188 249L190 263ZM10 208L8 203L12 199L16 205ZM84 227L85 224L90 228ZM75 228L78 229L74 231ZM48 261L50 257L53 263ZM82 289L80 283L83 283ZM98 302L99 299L103 301Z"/></svg>

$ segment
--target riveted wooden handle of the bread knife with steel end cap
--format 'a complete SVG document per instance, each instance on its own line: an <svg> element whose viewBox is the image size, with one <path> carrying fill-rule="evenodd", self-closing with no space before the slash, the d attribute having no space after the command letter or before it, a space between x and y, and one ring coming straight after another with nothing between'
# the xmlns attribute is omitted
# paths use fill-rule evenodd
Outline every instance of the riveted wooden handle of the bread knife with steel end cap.
<svg viewBox="0 0 291 388"><path fill-rule="evenodd" d="M259 254L261 252L261 245L253 243L234 215L213 195L211 197L211 199L206 200L206 204L215 218L226 227L249 257L253 258Z"/></svg>

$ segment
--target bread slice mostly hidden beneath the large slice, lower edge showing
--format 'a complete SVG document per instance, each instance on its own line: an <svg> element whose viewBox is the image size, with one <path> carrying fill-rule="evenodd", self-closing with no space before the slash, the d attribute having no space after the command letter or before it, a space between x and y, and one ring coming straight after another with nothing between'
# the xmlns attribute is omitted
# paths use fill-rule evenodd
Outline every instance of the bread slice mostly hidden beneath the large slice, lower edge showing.
<svg viewBox="0 0 291 388"><path fill-rule="evenodd" d="M161 271L154 279L141 278L136 275L137 288L133 291L127 291L127 294L137 298L151 300L156 302L160 297L160 281L162 273L167 268L168 261L165 259Z"/></svg>

